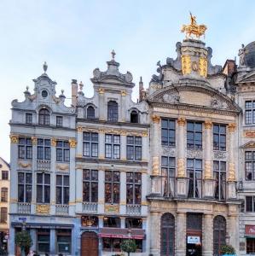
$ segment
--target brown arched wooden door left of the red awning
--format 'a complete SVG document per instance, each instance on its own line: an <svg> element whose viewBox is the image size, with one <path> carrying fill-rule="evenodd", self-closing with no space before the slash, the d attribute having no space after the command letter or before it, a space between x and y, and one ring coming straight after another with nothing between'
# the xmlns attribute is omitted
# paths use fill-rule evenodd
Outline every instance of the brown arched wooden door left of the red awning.
<svg viewBox="0 0 255 256"><path fill-rule="evenodd" d="M98 256L98 237L95 232L84 232L81 237L81 256Z"/></svg>

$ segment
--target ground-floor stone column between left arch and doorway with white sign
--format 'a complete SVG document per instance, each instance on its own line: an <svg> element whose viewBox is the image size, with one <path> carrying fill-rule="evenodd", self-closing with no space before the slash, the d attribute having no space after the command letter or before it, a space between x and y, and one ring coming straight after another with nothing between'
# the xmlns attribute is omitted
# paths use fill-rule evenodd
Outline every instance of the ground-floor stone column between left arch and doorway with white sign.
<svg viewBox="0 0 255 256"><path fill-rule="evenodd" d="M176 252L177 252L177 256L186 255L186 213L185 212L177 212Z"/></svg>

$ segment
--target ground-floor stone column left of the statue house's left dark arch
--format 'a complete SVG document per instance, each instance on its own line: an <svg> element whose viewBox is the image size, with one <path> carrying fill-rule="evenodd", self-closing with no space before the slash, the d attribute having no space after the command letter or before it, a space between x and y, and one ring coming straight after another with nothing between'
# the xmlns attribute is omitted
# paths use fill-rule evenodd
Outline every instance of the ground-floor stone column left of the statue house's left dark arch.
<svg viewBox="0 0 255 256"><path fill-rule="evenodd" d="M150 253L154 256L160 255L160 216L159 212L151 212L150 214Z"/></svg>

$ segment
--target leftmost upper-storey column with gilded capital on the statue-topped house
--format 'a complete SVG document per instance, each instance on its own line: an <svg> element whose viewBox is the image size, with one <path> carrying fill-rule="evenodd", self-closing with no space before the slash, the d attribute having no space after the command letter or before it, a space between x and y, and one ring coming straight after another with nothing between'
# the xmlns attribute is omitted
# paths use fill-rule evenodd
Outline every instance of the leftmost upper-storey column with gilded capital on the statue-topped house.
<svg viewBox="0 0 255 256"><path fill-rule="evenodd" d="M159 122L160 117L158 115L152 116L153 125L152 125L152 193L160 194L160 177L159 177Z"/></svg>

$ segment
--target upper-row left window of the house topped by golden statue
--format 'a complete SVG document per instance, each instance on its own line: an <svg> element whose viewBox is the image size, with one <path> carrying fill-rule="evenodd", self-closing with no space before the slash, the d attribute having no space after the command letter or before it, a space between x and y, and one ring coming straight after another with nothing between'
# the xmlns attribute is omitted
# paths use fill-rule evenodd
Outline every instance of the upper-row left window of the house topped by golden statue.
<svg viewBox="0 0 255 256"><path fill-rule="evenodd" d="M176 121L161 119L161 144L174 147L176 145Z"/></svg>

